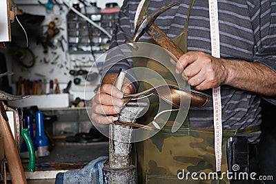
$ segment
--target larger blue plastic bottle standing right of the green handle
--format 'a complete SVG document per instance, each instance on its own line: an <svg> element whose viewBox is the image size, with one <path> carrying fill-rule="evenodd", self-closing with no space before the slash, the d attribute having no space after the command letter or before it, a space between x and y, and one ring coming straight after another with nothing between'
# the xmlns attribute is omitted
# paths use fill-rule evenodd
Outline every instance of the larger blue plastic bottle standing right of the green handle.
<svg viewBox="0 0 276 184"><path fill-rule="evenodd" d="M50 154L48 149L48 139L44 133L43 114L36 112L35 114L35 143L37 144L38 156L48 156Z"/></svg>

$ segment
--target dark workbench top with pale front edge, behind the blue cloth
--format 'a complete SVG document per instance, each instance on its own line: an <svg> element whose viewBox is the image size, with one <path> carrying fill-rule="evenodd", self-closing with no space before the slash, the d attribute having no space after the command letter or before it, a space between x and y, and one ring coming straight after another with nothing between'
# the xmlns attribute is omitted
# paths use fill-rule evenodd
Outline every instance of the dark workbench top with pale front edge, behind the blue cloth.
<svg viewBox="0 0 276 184"><path fill-rule="evenodd" d="M108 156L108 142L66 143L59 140L50 151L49 156L37 159L36 171L28 172L28 162L22 160L28 183L55 183L59 172L84 167L99 156ZM7 174L10 180L10 175Z"/></svg>

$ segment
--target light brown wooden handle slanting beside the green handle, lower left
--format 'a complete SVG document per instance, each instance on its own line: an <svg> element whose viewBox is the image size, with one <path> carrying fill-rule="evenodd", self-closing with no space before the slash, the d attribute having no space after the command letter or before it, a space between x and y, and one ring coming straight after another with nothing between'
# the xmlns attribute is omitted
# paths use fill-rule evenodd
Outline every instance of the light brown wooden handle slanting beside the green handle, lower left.
<svg viewBox="0 0 276 184"><path fill-rule="evenodd" d="M4 152L8 161L8 169L10 171L12 183L26 184L27 181L17 150L17 145L12 136L12 131L10 130L10 125L2 101L0 101L0 110L0 136L3 137Z"/></svg>

